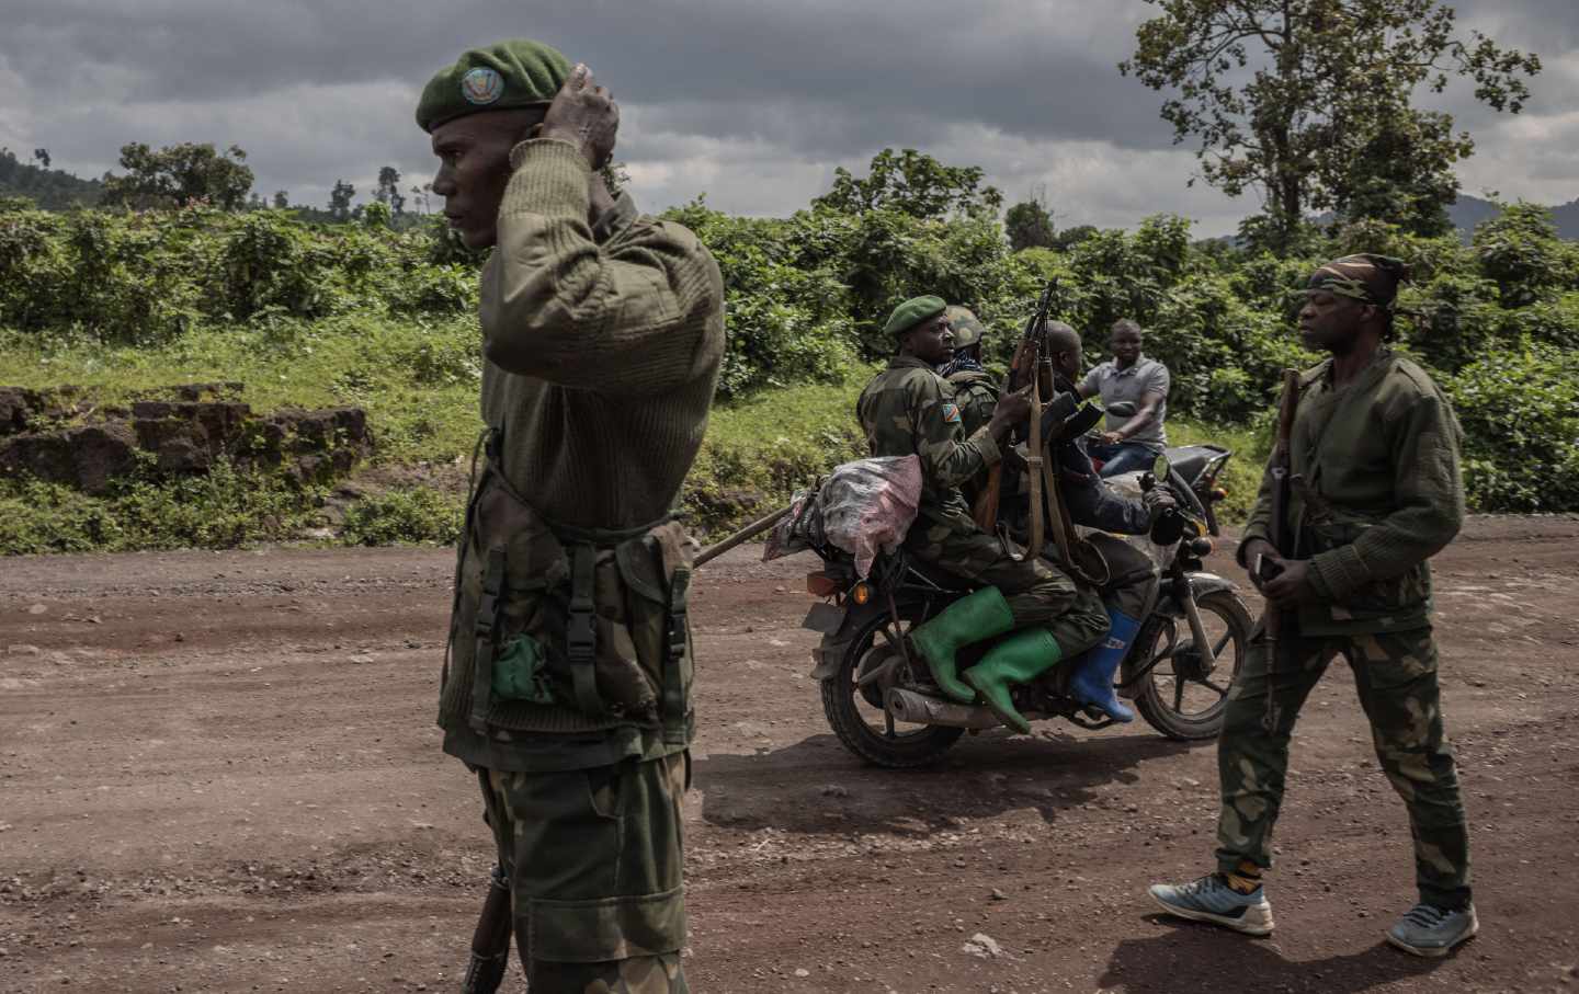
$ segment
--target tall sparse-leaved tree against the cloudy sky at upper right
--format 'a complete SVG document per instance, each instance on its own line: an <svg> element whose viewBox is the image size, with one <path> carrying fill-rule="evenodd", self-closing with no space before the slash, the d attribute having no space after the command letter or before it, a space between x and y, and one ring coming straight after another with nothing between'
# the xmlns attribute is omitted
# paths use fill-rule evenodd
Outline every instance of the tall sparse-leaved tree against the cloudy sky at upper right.
<svg viewBox="0 0 1579 994"><path fill-rule="evenodd" d="M1530 96L1524 77L1541 69L1536 55L1480 32L1461 38L1438 0L1146 2L1162 14L1135 30L1120 71L1176 90L1162 103L1173 142L1198 139L1202 178L1228 196L1260 189L1274 249L1296 240L1306 211L1347 194L1342 177L1385 126L1413 114L1418 87L1440 93L1450 77L1470 77L1481 103L1517 114ZM1442 118L1410 121L1427 172L1473 148Z"/></svg>

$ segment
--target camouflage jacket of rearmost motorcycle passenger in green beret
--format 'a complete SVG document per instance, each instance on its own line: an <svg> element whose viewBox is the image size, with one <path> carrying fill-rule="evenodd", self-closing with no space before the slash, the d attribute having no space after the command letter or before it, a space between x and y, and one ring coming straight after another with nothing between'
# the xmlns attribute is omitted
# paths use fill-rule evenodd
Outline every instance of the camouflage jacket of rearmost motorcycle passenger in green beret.
<svg viewBox="0 0 1579 994"><path fill-rule="evenodd" d="M960 530L974 530L960 484L998 462L1003 453L987 426L965 434L954 391L919 358L895 357L861 391L856 417L873 456L921 456L921 513Z"/></svg>

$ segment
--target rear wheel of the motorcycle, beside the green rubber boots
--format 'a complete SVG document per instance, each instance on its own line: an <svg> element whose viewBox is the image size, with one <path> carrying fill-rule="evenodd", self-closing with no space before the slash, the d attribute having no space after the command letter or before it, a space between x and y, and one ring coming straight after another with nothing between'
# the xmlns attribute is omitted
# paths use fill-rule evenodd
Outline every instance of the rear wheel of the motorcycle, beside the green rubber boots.
<svg viewBox="0 0 1579 994"><path fill-rule="evenodd" d="M895 678L908 675L916 680L914 674L905 674L905 663L898 663L881 686L856 683L862 674L892 661L894 645L921 620L919 612L919 606L900 609L898 625L887 615L867 622L845 645L838 672L823 680L823 713L827 715L834 735L846 749L880 767L905 768L936 762L965 734L965 729L946 726L898 726L881 707L883 694ZM917 660L914 666L924 664Z"/></svg>

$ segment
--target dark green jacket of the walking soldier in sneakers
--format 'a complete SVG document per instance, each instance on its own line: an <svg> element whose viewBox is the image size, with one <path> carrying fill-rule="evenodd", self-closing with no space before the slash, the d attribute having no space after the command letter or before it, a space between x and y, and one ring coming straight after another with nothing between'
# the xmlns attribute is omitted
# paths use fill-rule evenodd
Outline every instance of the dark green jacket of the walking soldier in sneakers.
<svg viewBox="0 0 1579 994"><path fill-rule="evenodd" d="M1464 522L1461 429L1426 371L1394 353L1333 388L1331 360L1301 376L1288 502L1296 547L1311 560L1317 603L1300 611L1307 634L1407 631L1429 625L1426 560ZM1271 473L1240 549L1266 538ZM1243 552L1241 552L1243 562Z"/></svg>

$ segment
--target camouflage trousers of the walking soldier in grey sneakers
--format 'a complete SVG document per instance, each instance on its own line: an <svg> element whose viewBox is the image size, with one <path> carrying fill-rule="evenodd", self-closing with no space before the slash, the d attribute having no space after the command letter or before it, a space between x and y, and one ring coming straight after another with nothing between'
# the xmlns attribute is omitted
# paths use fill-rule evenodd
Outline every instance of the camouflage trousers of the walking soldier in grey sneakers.
<svg viewBox="0 0 1579 994"><path fill-rule="evenodd" d="M1355 674L1360 705L1371 721L1377 760L1408 808L1415 839L1415 880L1421 901L1459 907L1470 899L1468 828L1442 731L1437 644L1431 628L1415 631L1298 637L1284 636L1276 672L1268 672L1266 642L1257 633L1228 691L1217 740L1222 811L1217 819L1217 869L1241 860L1271 866L1273 824L1288 770L1288 735L1300 708L1334 656ZM1274 731L1266 732L1266 694L1273 694Z"/></svg>

